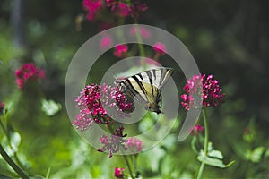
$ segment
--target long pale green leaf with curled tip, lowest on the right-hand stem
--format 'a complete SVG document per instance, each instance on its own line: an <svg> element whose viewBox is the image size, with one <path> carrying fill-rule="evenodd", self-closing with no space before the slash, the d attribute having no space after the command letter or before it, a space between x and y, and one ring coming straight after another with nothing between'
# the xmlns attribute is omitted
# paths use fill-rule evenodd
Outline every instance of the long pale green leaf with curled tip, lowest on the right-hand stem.
<svg viewBox="0 0 269 179"><path fill-rule="evenodd" d="M197 159L200 162L204 162L204 164L206 164L208 166L216 166L216 167L220 167L220 168L228 167L234 163L234 161L231 161L228 165L225 165L225 164L223 164L221 159L211 158L211 157L205 156L203 151L200 152L200 155L197 157Z"/></svg>

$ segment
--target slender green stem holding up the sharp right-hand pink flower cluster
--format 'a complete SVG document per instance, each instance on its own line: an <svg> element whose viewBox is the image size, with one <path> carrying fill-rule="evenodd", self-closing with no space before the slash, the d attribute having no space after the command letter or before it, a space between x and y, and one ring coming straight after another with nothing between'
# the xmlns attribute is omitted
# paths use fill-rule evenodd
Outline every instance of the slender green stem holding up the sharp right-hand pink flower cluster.
<svg viewBox="0 0 269 179"><path fill-rule="evenodd" d="M206 110L203 107L202 109L202 113L203 113L203 118L204 118L204 157L207 156L207 150L208 150L208 138L209 138L209 132L208 132L208 123L207 123L207 114L206 114ZM197 179L201 179L203 172L204 172L204 162L202 162L198 175L197 175Z"/></svg>

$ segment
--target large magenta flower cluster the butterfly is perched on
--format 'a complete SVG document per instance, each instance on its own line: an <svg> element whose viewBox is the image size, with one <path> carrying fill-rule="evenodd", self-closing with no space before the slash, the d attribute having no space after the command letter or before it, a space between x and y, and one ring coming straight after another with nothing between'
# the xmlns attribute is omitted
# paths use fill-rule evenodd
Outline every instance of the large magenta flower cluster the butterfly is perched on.
<svg viewBox="0 0 269 179"><path fill-rule="evenodd" d="M113 123L113 116L127 117L129 115L124 112L133 109L133 104L127 101L126 95L122 94L118 87L111 87L107 84L86 86L75 101L80 112L73 125L76 125L76 128L80 128L81 131L88 129L93 122L98 124ZM103 105L115 109L115 114L108 115Z"/></svg>

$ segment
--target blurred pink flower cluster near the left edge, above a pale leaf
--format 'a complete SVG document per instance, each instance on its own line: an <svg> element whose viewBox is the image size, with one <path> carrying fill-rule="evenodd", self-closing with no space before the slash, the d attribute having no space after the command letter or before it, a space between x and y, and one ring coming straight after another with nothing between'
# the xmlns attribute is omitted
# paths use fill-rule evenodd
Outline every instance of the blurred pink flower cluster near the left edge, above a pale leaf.
<svg viewBox="0 0 269 179"><path fill-rule="evenodd" d="M16 82L19 89L23 89L25 83L29 80L44 79L45 72L35 66L35 64L22 64L15 72Z"/></svg>

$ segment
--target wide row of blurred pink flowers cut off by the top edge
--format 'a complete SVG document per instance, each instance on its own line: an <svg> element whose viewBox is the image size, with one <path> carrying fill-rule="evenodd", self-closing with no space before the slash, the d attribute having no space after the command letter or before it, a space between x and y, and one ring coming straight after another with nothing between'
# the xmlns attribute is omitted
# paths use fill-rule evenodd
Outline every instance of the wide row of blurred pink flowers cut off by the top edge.
<svg viewBox="0 0 269 179"><path fill-rule="evenodd" d="M103 0L83 0L82 5L87 12L86 18L89 21L95 20L97 13L106 9L106 6L119 17L138 18L141 13L148 9L147 4L141 3L140 0L135 0L133 4L128 4L125 0L106 0L105 3Z"/></svg>

